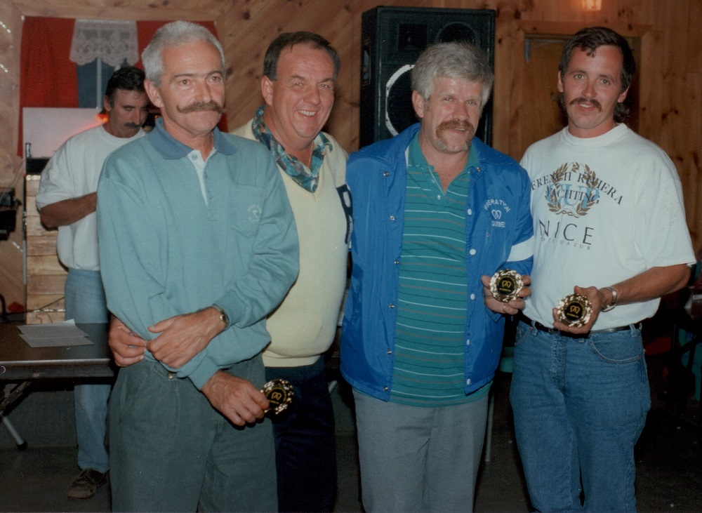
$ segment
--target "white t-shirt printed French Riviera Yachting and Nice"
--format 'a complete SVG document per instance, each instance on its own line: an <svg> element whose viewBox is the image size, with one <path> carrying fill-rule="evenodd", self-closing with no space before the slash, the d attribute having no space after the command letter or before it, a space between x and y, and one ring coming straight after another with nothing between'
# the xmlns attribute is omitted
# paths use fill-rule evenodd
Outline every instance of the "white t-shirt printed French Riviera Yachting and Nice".
<svg viewBox="0 0 702 513"><path fill-rule="evenodd" d="M553 326L574 286L609 286L651 267L695 262L680 178L663 149L624 124L595 138L564 128L531 145L534 269L524 314ZM651 317L660 300L618 305L593 330Z"/></svg>

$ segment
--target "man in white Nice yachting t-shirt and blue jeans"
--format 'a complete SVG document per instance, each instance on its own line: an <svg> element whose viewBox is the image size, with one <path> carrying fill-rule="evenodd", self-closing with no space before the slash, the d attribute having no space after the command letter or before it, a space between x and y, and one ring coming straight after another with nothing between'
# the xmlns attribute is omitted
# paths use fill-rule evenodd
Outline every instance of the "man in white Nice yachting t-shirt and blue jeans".
<svg viewBox="0 0 702 513"><path fill-rule="evenodd" d="M633 449L651 404L640 321L695 261L673 162L621 123L634 72L616 32L575 34L558 73L568 126L522 159L536 244L510 399L542 512L635 511ZM583 326L559 320L573 293L592 305Z"/></svg>

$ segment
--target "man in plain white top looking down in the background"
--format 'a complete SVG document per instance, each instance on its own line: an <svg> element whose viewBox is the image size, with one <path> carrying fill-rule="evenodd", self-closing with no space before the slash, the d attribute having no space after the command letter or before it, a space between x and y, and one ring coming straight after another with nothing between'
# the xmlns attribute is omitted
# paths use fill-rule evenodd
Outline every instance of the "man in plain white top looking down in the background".
<svg viewBox="0 0 702 513"><path fill-rule="evenodd" d="M118 69L107 82L102 105L107 122L67 140L41 175L37 208L47 228L58 227L58 258L68 268L66 319L107 323L102 290L95 217L98 178L107 156L144 135L149 99L144 72ZM70 498L90 498L107 482L110 459L105 450L107 398L110 384L75 385L78 466L81 473L68 488Z"/></svg>

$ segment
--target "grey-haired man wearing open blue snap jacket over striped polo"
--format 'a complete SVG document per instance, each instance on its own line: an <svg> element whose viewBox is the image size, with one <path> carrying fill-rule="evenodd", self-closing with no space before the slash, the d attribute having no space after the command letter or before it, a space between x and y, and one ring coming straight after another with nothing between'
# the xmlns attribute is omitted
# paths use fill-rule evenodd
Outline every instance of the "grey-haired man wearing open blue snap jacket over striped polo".
<svg viewBox="0 0 702 513"><path fill-rule="evenodd" d="M354 389L367 512L467 511L504 315L489 276L531 271L527 173L474 138L494 76L475 46L420 55L420 124L352 154L341 372Z"/></svg>

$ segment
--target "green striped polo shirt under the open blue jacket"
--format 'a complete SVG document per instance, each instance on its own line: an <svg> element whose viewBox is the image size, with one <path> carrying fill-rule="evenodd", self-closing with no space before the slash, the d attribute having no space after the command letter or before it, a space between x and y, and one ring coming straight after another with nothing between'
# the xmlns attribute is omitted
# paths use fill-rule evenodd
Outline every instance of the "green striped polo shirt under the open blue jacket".
<svg viewBox="0 0 702 513"><path fill-rule="evenodd" d="M479 399L489 389L468 396L463 389L465 205L476 153L471 145L465 168L444 193L417 136L409 145L390 392L395 403L448 406Z"/></svg>

